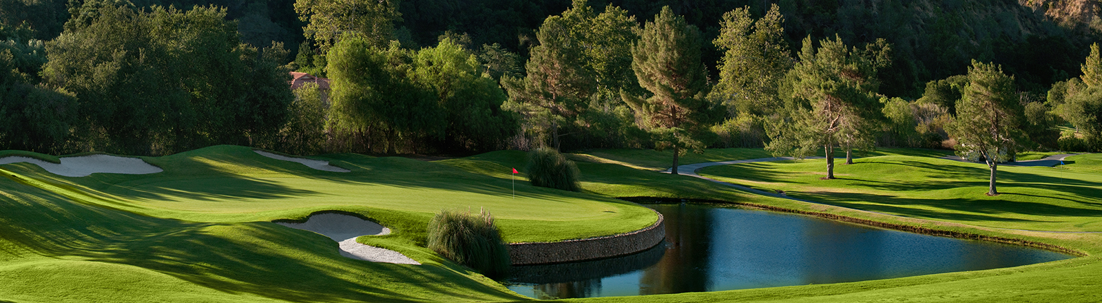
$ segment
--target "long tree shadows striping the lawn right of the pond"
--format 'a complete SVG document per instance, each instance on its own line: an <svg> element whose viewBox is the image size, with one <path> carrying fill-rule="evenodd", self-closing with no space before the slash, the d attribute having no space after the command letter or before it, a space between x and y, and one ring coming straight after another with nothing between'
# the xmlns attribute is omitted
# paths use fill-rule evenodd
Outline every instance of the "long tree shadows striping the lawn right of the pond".
<svg viewBox="0 0 1102 303"><path fill-rule="evenodd" d="M774 182L797 184L796 186L876 190L878 192L934 192L950 191L960 187L986 188L990 170L982 164L955 163L941 161L928 163L905 160L899 162L867 159L857 162L861 165L876 166L839 175L834 181L807 180L795 177L807 175L806 172L786 172L777 169L776 163L744 163L719 167L705 173L725 175L734 178L757 182ZM885 175L898 174L901 170L914 171L908 174L914 180L893 180ZM1047 221L1012 218L1013 215L1045 217L1092 217L1102 216L1102 183L1091 180L1078 180L1054 175L1046 167L1014 167L1009 171L998 171L998 186L1006 198L987 198L981 196L962 197L949 194L944 198L934 197L900 197L884 194L846 193L844 191L818 190L822 192L799 192L792 188L791 195L809 201L831 205L860 208L879 213L899 214L904 216L921 216L936 219L962 221ZM735 181L735 183L738 183ZM1044 190L1046 195L1035 195L1030 192ZM817 190L808 190L817 191ZM919 207L922 206L922 207ZM954 209L955 212L933 212L921 208ZM963 213L958 213L963 212ZM1059 221L1059 220L1054 220Z"/></svg>

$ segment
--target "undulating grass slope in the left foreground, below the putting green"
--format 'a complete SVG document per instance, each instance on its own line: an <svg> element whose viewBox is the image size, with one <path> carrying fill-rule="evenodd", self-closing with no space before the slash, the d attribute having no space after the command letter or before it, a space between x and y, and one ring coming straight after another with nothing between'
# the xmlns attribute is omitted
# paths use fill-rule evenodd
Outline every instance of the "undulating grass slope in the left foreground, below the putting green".
<svg viewBox="0 0 1102 303"><path fill-rule="evenodd" d="M426 249L423 266L341 257L272 223L164 219L0 170L0 297L15 302L417 302L519 300ZM12 176L14 174L14 176ZM383 241L388 241L385 240ZM401 247L403 240L389 240Z"/></svg>

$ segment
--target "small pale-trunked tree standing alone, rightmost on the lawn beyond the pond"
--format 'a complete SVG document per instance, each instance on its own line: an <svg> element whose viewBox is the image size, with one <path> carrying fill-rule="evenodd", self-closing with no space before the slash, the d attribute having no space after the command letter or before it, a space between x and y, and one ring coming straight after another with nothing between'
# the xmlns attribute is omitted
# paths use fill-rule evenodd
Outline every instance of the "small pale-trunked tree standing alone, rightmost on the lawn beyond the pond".
<svg viewBox="0 0 1102 303"><path fill-rule="evenodd" d="M957 102L957 118L947 130L957 139L959 154L987 162L987 195L995 196L998 162L1013 159L1024 136L1019 129L1023 108L1014 77L1003 74L1002 66L972 61L968 78L963 97Z"/></svg>

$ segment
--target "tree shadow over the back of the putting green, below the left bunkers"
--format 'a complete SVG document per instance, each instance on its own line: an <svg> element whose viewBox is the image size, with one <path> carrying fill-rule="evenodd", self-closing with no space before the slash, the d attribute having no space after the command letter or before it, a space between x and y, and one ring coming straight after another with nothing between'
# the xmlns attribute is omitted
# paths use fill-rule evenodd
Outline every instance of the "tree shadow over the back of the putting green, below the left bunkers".
<svg viewBox="0 0 1102 303"><path fill-rule="evenodd" d="M323 172L299 163L269 159L256 154L248 148L214 147L150 159L151 163L165 169L165 172L159 174L99 174L71 178L41 173L35 174L35 177L55 183L76 184L126 199L140 201L216 202L327 195L305 186L289 184L295 178L348 186L380 185L406 190L441 190L497 197L511 197L516 186L518 197L549 202L563 201L563 196L579 197L576 193L534 187L528 182L516 182L514 185L514 181L508 177L469 173L440 163L397 156L346 159L348 161L339 161L338 164L352 169L353 172ZM128 206L140 207L140 205Z"/></svg>

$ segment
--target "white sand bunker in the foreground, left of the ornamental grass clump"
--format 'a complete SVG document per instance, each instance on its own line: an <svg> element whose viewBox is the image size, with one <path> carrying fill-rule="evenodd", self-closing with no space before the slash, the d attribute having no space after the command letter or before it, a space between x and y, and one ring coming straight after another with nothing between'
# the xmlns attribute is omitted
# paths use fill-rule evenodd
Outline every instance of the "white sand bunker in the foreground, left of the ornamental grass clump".
<svg viewBox="0 0 1102 303"><path fill-rule="evenodd" d="M329 237L341 245L341 256L346 258L396 264L421 264L401 252L357 242L356 238L359 236L390 235L390 228L374 221L341 214L317 214L311 216L306 223L276 224Z"/></svg>

